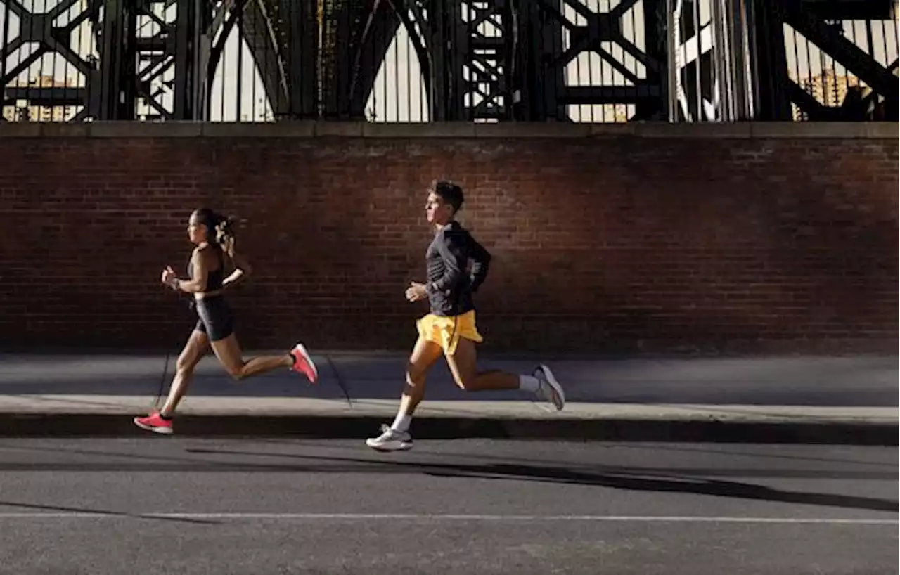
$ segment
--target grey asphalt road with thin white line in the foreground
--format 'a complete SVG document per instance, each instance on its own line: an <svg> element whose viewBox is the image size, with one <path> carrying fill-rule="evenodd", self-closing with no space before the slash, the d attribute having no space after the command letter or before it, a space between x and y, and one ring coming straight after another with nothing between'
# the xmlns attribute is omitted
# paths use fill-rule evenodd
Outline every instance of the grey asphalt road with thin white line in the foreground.
<svg viewBox="0 0 900 575"><path fill-rule="evenodd" d="M900 450L0 440L0 572L893 574Z"/></svg>

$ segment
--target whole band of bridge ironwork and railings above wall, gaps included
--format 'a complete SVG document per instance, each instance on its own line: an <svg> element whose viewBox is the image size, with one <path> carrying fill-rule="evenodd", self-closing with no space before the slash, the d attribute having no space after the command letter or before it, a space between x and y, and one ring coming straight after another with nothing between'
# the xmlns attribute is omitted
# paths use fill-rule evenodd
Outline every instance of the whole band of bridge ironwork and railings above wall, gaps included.
<svg viewBox="0 0 900 575"><path fill-rule="evenodd" d="M2 121L900 121L900 0L0 0Z"/></svg>

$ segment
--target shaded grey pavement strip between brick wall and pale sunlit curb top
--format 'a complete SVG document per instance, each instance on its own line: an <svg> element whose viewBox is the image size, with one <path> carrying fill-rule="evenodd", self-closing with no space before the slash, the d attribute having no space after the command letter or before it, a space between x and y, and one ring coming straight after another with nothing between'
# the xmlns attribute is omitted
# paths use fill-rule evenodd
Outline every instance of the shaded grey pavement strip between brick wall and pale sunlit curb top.
<svg viewBox="0 0 900 575"><path fill-rule="evenodd" d="M310 385L288 370L234 382L214 359L198 367L188 397L308 398L346 401L398 400L403 389L405 355L315 355L320 384ZM0 398L38 401L38 395L165 395L175 368L163 355L8 356L0 362ZM485 355L483 369L531 373L537 361ZM642 405L722 406L900 406L900 358L758 357L559 360L550 362L567 400ZM459 390L445 362L428 376L426 400L528 400L519 391L466 393ZM85 406L87 407L87 406Z"/></svg>

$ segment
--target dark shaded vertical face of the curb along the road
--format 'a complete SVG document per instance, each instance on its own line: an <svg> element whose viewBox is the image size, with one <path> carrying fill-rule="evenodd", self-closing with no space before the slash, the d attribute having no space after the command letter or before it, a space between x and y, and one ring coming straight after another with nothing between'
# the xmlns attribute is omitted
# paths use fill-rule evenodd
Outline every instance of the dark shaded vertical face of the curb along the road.
<svg viewBox="0 0 900 575"><path fill-rule="evenodd" d="M179 416L177 436L359 439L377 435L383 415ZM900 425L851 421L721 421L653 418L417 418L415 439L545 439L560 441L900 445ZM0 437L154 436L121 414L0 414ZM164 436L158 436L165 439Z"/></svg>

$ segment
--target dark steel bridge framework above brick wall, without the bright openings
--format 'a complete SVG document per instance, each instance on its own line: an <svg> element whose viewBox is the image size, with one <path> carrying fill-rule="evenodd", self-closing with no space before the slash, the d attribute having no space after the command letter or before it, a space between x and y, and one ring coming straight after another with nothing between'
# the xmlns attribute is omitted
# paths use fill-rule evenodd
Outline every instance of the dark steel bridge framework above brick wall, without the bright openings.
<svg viewBox="0 0 900 575"><path fill-rule="evenodd" d="M639 1L645 40L640 47L622 26L624 14ZM751 59L761 72L753 86L742 87L752 87L758 96L756 119L788 120L791 104L811 119L860 119L865 115L860 110L876 100L888 103L888 115L898 113L890 104L900 103L900 60L879 64L829 19L898 18L900 2L892 4L893 13L891 6L885 12L881 4L851 0L726 4L752 6ZM64 18L76 5L80 13ZM139 101L151 119L208 120L212 79L225 40L237 27L275 119L361 120L394 35L404 27L419 58L432 121L568 121L571 106L608 104L634 106L633 119L662 119L671 102L665 46L671 22L664 5L664 0L623 0L609 13L593 13L581 0L61 0L38 14L20 0L0 0L6 16L0 86L4 105L24 100L80 109L70 121L135 119ZM172 11L174 18L160 17ZM10 14L21 23L16 37L8 31ZM141 33L139 18L156 31ZM92 24L95 47L79 53L72 37L85 22ZM868 92L838 111L816 103L788 77L781 31L786 23L860 77ZM8 65L7 57L28 42L38 49ZM643 74L610 54L610 44L640 63ZM604 58L626 83L567 80L566 68L583 51ZM695 66L708 72L709 57L700 52ZM84 85L14 85L16 76L49 53L64 58ZM713 65L725 67L721 61ZM169 79L161 82L163 76Z"/></svg>

